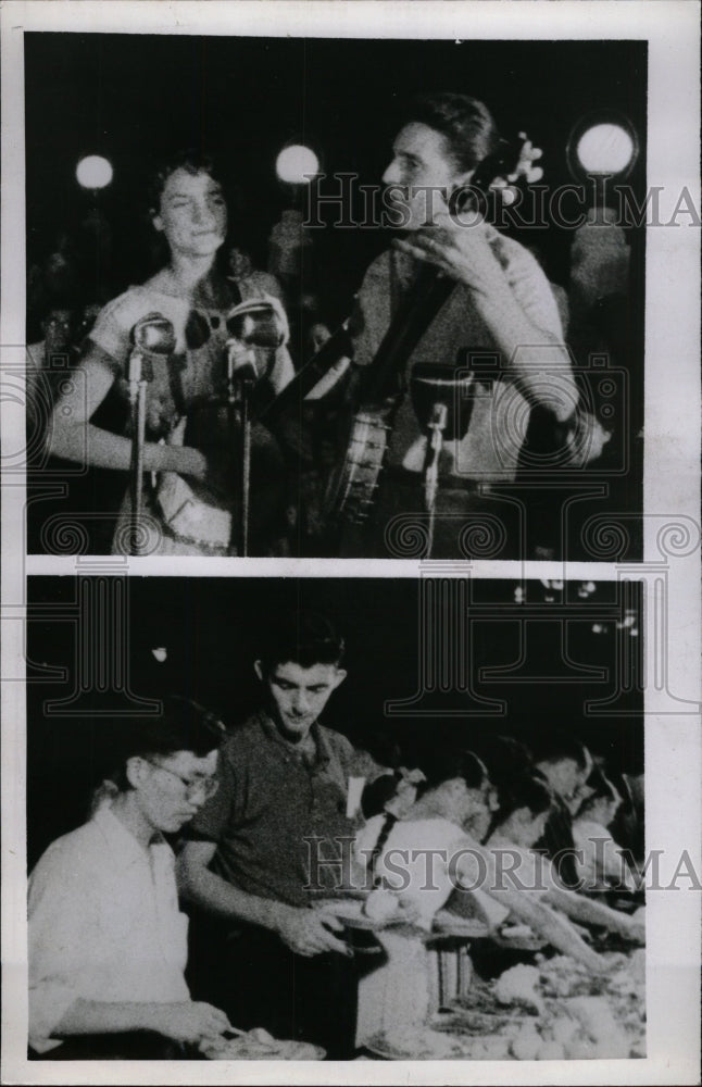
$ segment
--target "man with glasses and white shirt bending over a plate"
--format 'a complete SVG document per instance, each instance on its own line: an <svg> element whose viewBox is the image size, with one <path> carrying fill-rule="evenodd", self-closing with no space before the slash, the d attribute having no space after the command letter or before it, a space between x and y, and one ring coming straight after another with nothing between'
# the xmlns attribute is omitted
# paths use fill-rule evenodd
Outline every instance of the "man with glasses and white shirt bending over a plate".
<svg viewBox="0 0 702 1087"><path fill-rule="evenodd" d="M215 788L224 726L185 699L139 720L84 826L54 841L29 877L30 1057L185 1058L229 1028L191 1001L187 919L163 838ZM197 1050L192 1050L197 1053Z"/></svg>

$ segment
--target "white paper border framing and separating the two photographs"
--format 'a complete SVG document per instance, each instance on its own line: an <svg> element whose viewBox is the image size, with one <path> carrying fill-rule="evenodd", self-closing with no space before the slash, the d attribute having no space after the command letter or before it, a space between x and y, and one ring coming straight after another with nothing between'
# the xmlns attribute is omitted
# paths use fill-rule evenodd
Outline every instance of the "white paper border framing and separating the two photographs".
<svg viewBox="0 0 702 1087"><path fill-rule="evenodd" d="M455 39L639 39L649 45L649 185L661 185L662 218L687 186L699 192L699 16L695 0L9 0L2 7L2 366L24 365L25 208L23 35L25 30L279 37ZM597 73L593 73L597 78ZM661 589L662 526L699 525L700 313L699 233L678 226L647 238L644 558L611 563L473 562L473 577L642 578L647 607ZM13 347L14 345L14 347ZM17 347L20 345L20 347ZM24 409L2 397L3 459L24 446ZM26 1061L25 576L99 573L96 559L22 552L25 491L12 478L2 491L2 1047L3 1082L13 1084L687 1084L699 1082L700 895L680 890L649 903L648 1052L636 1061L353 1062L330 1064L68 1063ZM663 562L665 566L665 561ZM112 560L114 570L114 560ZM416 562L137 559L133 575L403 576ZM426 571L424 571L426 572ZM444 573L440 571L440 573ZM460 576L453 566L451 576ZM667 567L667 676L680 698L700 698L700 596L697 553ZM661 708L655 647L645 646L648 846L670 855L682 844L700 858L700 721ZM651 898L651 897L650 897Z"/></svg>

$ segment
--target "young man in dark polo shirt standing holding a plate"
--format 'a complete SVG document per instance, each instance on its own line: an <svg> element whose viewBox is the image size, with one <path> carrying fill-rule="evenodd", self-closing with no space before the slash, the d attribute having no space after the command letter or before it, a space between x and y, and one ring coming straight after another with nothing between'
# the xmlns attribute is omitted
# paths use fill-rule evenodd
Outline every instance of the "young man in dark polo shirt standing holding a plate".
<svg viewBox="0 0 702 1087"><path fill-rule="evenodd" d="M311 855L341 858L335 839L356 829L349 778L383 773L319 724L346 677L342 653L321 616L279 625L255 662L264 708L225 741L220 788L188 827L179 860L185 897L206 912L211 932L212 915L224 923L223 947L206 970L201 961L202 991L217 992L236 1026L315 1042L333 1060L353 1054L358 977L341 926L313 908L310 887L338 886L341 865L313 861L311 871Z"/></svg>

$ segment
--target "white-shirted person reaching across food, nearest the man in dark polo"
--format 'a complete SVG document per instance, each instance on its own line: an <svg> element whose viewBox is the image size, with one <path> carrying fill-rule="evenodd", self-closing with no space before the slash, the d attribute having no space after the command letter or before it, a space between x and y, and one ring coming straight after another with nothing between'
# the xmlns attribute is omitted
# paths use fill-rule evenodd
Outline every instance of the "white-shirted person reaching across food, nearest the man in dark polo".
<svg viewBox="0 0 702 1087"><path fill-rule="evenodd" d="M599 955L575 929L536 896L518 889L502 874L496 851L479 845L496 797L484 763L473 752L436 758L427 769L426 788L421 789L402 820L375 816L356 837L356 857L366 864L375 887L365 905L369 916L404 915L429 928L452 892L468 888L490 927L512 913L564 954L593 972L602 969Z"/></svg>

